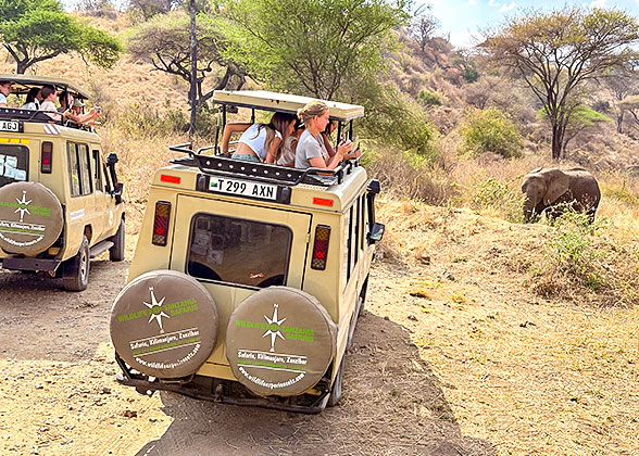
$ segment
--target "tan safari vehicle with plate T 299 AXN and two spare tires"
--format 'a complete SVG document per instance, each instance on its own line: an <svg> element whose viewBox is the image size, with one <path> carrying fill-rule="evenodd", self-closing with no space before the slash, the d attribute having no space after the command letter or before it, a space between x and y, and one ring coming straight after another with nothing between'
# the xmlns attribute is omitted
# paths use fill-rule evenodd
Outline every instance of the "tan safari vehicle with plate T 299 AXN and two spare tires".
<svg viewBox="0 0 639 456"><path fill-rule="evenodd" d="M293 113L310 99L216 91L227 109ZM358 105L327 102L352 137ZM236 161L214 145L151 183L111 337L121 383L215 402L318 413L341 397L364 307L379 183L359 160L329 172ZM204 154L205 150L214 153Z"/></svg>

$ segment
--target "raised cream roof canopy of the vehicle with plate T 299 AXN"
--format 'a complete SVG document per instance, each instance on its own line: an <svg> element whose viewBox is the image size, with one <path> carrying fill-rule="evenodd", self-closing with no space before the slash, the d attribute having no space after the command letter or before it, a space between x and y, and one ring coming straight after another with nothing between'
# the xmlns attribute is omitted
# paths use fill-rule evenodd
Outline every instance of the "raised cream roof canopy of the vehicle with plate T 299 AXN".
<svg viewBox="0 0 639 456"><path fill-rule="evenodd" d="M213 93L213 102L215 103L292 114L297 114L298 109L303 107L312 100L316 99L267 92L265 90L215 90ZM336 101L322 101L328 105L330 118L346 122L364 115L364 106L338 103Z"/></svg>

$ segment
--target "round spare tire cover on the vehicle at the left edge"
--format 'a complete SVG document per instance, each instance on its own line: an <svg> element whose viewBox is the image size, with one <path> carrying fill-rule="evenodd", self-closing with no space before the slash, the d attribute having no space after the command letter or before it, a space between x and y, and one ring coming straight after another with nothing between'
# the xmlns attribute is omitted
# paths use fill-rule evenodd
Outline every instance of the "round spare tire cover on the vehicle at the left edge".
<svg viewBox="0 0 639 456"><path fill-rule="evenodd" d="M0 248L36 255L60 237L64 216L58 197L39 182L13 182L0 188Z"/></svg>

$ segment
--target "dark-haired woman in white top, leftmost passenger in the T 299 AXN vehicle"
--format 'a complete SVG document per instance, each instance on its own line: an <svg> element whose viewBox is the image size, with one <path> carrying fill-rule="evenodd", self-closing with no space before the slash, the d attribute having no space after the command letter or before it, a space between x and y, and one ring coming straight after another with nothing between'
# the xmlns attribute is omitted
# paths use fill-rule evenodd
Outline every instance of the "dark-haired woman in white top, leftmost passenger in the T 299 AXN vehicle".
<svg viewBox="0 0 639 456"><path fill-rule="evenodd" d="M222 153L228 155L230 135L243 131L231 159L275 163L283 141L292 132L295 121L296 117L292 114L275 113L268 124L226 124L222 137Z"/></svg>

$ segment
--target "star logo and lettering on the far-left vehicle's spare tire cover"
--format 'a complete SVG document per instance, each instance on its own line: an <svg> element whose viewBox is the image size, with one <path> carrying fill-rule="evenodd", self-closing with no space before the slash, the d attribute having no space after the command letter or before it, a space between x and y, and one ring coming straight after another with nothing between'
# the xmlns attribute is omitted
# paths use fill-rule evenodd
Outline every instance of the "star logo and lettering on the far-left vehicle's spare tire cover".
<svg viewBox="0 0 639 456"><path fill-rule="evenodd" d="M26 216L51 217L49 207L32 205L33 200L27 198L26 191L22 191L22 198L15 198L15 202L0 201L0 208L14 208L17 220L0 219L0 238L11 245L29 246L37 244L45 238L47 227L41 224L28 223Z"/></svg>

